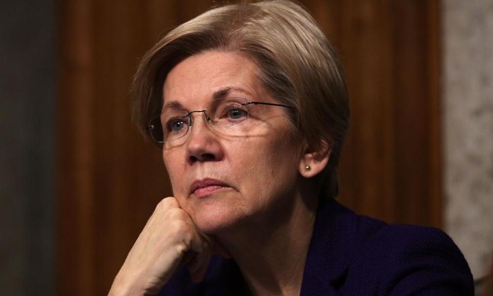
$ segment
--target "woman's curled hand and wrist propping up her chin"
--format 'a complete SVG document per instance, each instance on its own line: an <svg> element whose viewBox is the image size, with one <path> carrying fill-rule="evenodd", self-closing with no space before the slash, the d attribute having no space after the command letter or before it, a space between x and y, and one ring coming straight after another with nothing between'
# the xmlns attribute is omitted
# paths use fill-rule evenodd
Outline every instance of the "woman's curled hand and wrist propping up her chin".
<svg viewBox="0 0 493 296"><path fill-rule="evenodd" d="M157 294L184 264L192 280L200 282L213 245L217 243L197 229L175 197L164 198L128 253L109 295Z"/></svg>

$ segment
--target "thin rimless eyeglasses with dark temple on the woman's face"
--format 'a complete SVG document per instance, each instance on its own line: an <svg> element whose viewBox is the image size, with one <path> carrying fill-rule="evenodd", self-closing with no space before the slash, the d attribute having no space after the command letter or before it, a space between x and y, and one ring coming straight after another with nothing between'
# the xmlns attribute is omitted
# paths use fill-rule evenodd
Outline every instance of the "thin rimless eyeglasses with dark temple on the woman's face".
<svg viewBox="0 0 493 296"><path fill-rule="evenodd" d="M151 138L159 145L183 138L194 124L192 114L203 113L205 122L215 131L228 136L244 136L248 126L241 124L250 117L251 105L267 105L291 108L288 105L249 102L244 98L220 98L207 103L201 110L191 112L174 107L163 110L161 115L153 117L147 126Z"/></svg>

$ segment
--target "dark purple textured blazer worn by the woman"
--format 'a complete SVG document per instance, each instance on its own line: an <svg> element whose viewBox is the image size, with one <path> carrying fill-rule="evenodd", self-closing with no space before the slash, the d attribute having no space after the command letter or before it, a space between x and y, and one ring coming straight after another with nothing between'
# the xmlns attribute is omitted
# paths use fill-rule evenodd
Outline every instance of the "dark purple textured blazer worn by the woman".
<svg viewBox="0 0 493 296"><path fill-rule="evenodd" d="M252 252L261 250L252 250ZM242 295L233 260L214 257L200 284L186 269L159 295ZM472 275L450 237L436 228L388 225L321 201L300 295L473 295Z"/></svg>

